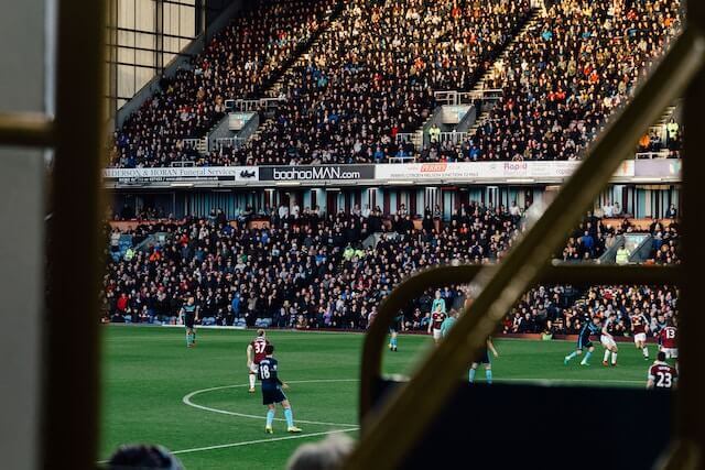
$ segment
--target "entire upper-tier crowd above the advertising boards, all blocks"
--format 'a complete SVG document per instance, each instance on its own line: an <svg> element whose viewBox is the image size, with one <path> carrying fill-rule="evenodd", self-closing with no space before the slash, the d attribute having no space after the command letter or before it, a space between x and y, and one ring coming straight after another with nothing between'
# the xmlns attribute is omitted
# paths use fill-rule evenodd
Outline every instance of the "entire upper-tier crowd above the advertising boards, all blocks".
<svg viewBox="0 0 705 470"><path fill-rule="evenodd" d="M414 152L395 136L424 124L434 91L470 90L487 70L497 106L464 142L422 149L422 161L577 159L681 28L679 0L570 0L539 13L528 0L350 0L325 21L336 4L262 1L235 20L127 121L111 164L387 162ZM200 155L183 144L225 99L263 97L280 74L284 99L245 145Z"/></svg>

